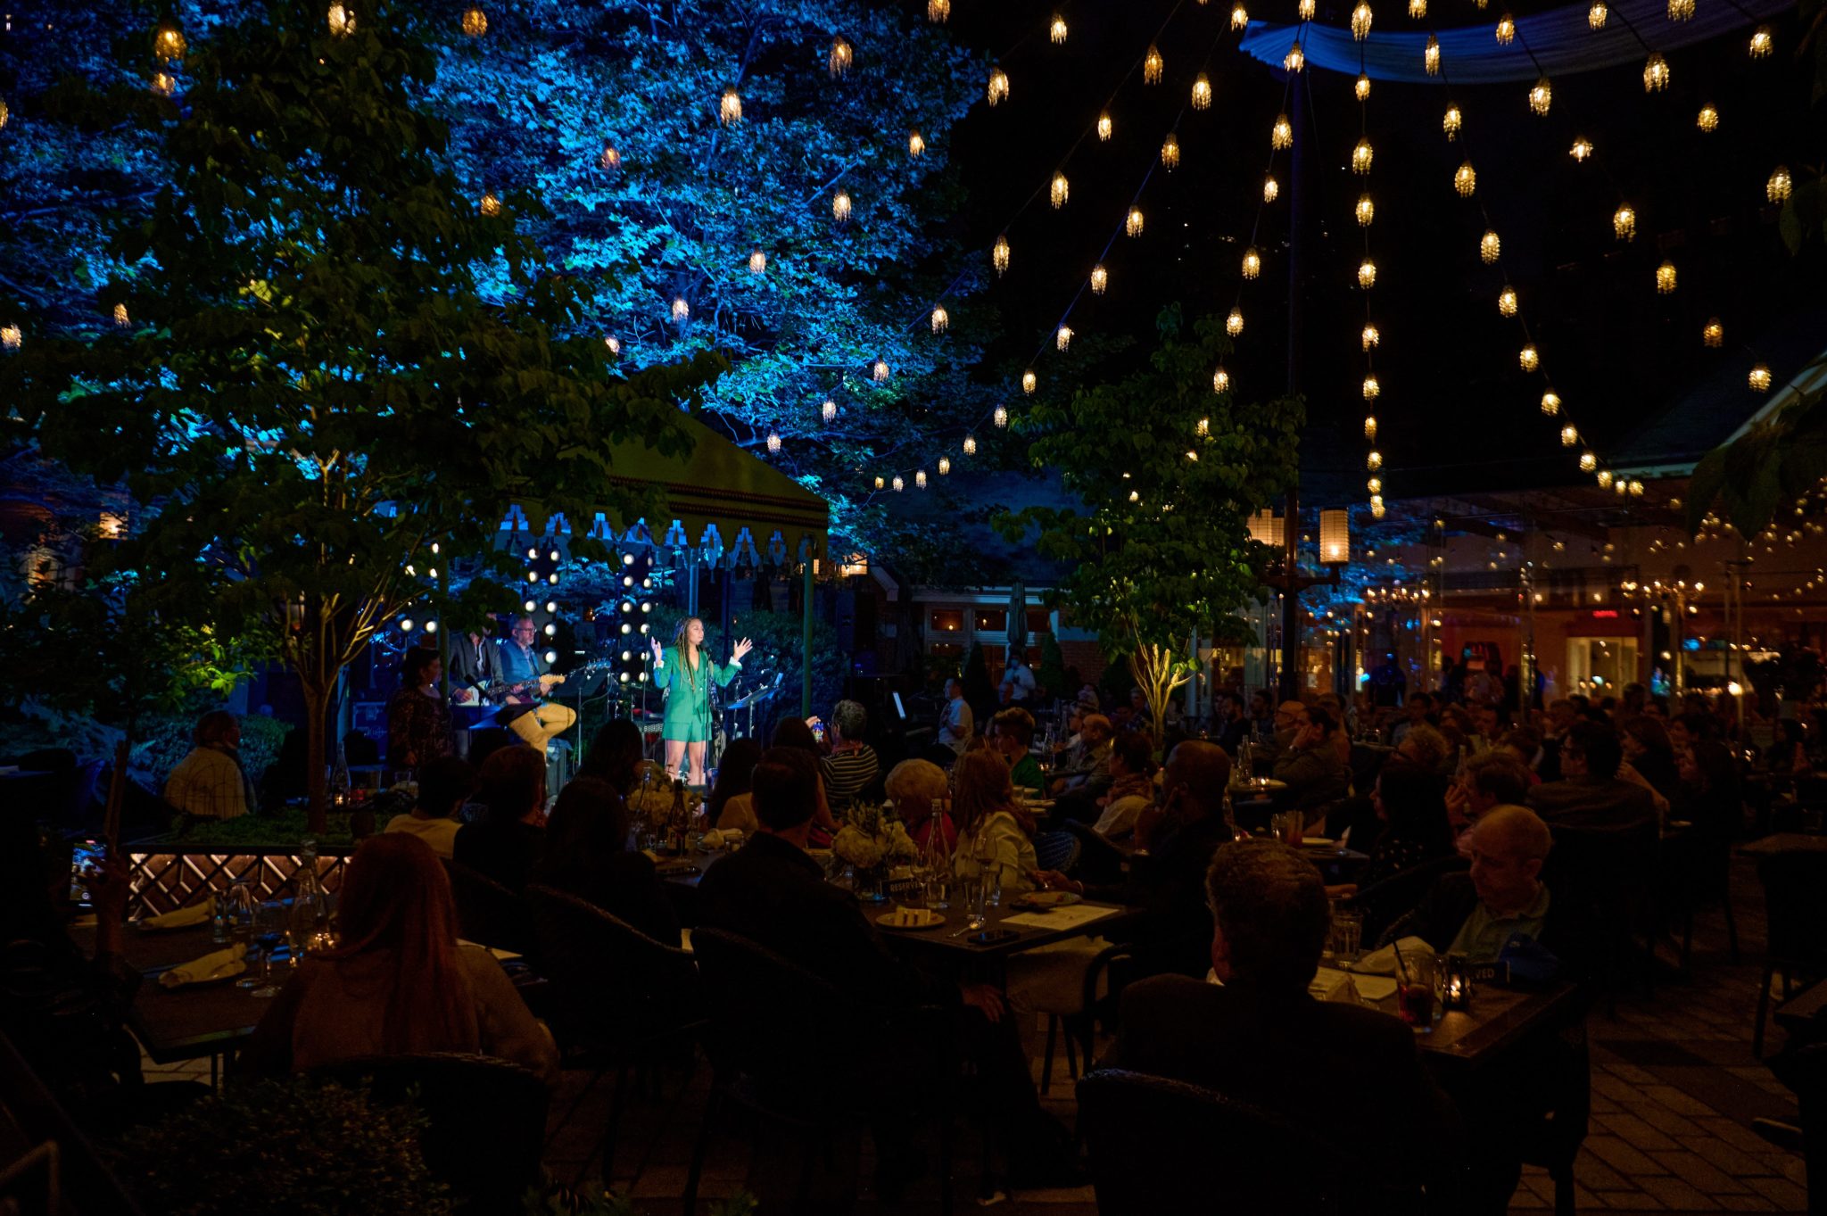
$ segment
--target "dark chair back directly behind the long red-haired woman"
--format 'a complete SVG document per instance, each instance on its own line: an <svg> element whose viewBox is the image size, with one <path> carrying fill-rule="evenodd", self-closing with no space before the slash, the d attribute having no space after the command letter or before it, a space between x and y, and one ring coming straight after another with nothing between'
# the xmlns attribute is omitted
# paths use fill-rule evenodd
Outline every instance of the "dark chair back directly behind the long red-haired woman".
<svg viewBox="0 0 1827 1216"><path fill-rule="evenodd" d="M539 1179L546 1085L519 1064L428 1052L360 1055L320 1064L311 1075L362 1085L376 1101L424 1112L426 1169L451 1189L459 1211L519 1211L521 1196Z"/></svg>

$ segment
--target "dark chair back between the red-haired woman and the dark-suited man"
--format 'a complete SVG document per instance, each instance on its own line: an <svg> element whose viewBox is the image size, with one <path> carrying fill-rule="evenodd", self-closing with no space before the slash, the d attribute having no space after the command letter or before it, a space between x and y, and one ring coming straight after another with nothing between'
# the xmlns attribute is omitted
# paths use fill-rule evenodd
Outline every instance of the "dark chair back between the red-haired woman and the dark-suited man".
<svg viewBox="0 0 1827 1216"><path fill-rule="evenodd" d="M526 906L561 1039L627 1046L702 1017L698 968L683 949L557 887L530 884Z"/></svg>

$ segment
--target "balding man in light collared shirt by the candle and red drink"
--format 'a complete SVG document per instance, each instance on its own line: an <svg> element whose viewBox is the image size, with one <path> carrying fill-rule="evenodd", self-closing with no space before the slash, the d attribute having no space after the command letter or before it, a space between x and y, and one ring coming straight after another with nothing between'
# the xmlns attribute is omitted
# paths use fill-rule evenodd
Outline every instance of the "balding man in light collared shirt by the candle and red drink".
<svg viewBox="0 0 1827 1216"><path fill-rule="evenodd" d="M1551 847L1553 836L1533 811L1493 807L1473 823L1471 871L1434 884L1399 933L1471 962L1496 962L1504 944L1522 933L1569 964L1579 951L1571 917L1542 884Z"/></svg>

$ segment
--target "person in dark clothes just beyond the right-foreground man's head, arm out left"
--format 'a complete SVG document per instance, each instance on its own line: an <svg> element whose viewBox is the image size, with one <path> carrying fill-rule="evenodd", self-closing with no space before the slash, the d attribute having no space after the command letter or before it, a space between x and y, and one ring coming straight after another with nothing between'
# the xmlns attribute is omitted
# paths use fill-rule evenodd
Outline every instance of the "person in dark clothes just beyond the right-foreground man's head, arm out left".
<svg viewBox="0 0 1827 1216"><path fill-rule="evenodd" d="M1206 867L1233 834L1224 814L1230 780L1231 758L1222 747L1199 739L1180 743L1162 765L1160 805L1136 816L1136 853L1129 858L1127 882L1087 886L1058 871L1043 871L1038 878L1051 887L1138 909L1125 929L1138 970L1204 975L1211 940Z"/></svg>

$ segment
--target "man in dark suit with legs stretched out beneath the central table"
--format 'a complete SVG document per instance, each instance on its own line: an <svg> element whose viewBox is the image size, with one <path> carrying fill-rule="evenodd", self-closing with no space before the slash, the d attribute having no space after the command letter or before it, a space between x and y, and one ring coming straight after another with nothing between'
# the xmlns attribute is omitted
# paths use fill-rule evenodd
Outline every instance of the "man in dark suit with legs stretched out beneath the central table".
<svg viewBox="0 0 1827 1216"><path fill-rule="evenodd" d="M1007 781L999 758L985 754L983 761ZM760 831L705 871L698 884L703 924L784 955L866 1010L954 1010L963 1050L976 1063L981 1116L1009 1136L1012 1179L1032 1185L1049 1174L1069 1178L1061 1132L1040 1110L1019 1032L1003 1017L1001 993L992 984L928 975L888 948L857 898L826 882L824 867L806 854L818 802L818 765L809 754L791 747L762 754L755 767ZM882 1043L884 1054L897 1050L893 1041ZM892 1105L895 1095L886 1092L882 1099ZM877 1148L886 1152L890 1145Z"/></svg>

